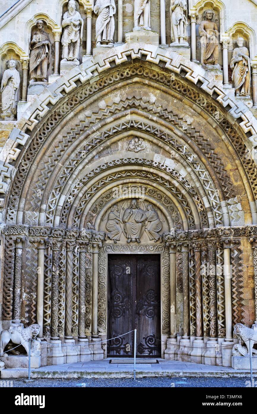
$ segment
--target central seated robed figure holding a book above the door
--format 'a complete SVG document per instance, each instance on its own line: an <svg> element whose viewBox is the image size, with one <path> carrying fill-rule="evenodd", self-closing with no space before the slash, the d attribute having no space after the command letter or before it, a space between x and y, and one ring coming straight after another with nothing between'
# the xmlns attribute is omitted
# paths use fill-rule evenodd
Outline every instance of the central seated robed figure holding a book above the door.
<svg viewBox="0 0 257 414"><path fill-rule="evenodd" d="M137 200L132 200L131 206L125 210L123 215L127 243L130 243L131 241L140 243L140 237L145 229L144 222L146 221L146 218L146 213L138 206Z"/></svg>

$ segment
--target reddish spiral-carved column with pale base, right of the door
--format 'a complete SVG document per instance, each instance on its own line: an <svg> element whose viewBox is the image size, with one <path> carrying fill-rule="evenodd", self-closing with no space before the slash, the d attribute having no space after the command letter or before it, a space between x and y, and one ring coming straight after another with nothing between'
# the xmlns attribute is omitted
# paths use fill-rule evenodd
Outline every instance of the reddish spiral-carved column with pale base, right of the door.
<svg viewBox="0 0 257 414"><path fill-rule="evenodd" d="M203 342L203 308L202 308L202 276L201 276L201 245L202 241L193 241L191 248L195 253L196 266L196 339L193 341L191 362L202 363Z"/></svg>

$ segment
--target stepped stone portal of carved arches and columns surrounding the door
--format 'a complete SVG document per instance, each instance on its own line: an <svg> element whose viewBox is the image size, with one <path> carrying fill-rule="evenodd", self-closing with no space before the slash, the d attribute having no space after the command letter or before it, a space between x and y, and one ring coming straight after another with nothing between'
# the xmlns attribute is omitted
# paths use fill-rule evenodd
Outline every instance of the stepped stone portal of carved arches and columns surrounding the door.
<svg viewBox="0 0 257 414"><path fill-rule="evenodd" d="M189 335L197 335L199 341L211 337L217 344L224 337L232 338L225 320L229 306L224 270L211 280L200 277L202 262L209 261L214 267L227 265L227 249L232 264L229 320L232 325L232 321L247 318L242 306L242 247L248 246L248 237L257 234L253 204L257 188L256 166L245 158L246 137L240 129L243 125L232 122L231 113L236 110L227 116L226 110L203 92L216 90L203 78L205 86L200 90L190 84L190 70L183 79L170 73L169 64L165 69L157 65L153 69L151 65L125 63L120 70L110 69L95 82L91 79L90 84L82 73L84 83L75 91L73 85L70 91L66 85L68 94L61 99L59 96L58 102L53 100L52 108L43 108L45 103L41 103L39 111L21 121L26 124L24 133L28 136L17 157L17 170L6 189L4 205L8 224L3 229L3 318L12 319L14 303L19 299L19 289L16 287L14 292L13 286L21 284L27 297L31 289L43 286L43 303L31 296L29 305L15 305L15 316L24 323L33 323L42 315L40 329L48 341L72 341L73 337L90 337L92 333L105 337L108 253L161 255L164 342L172 333L170 309L176 294L170 283L174 277L170 269L174 256L182 272L180 290L185 294L185 341ZM141 99L131 90L137 85L149 95L154 88L155 102ZM113 99L117 89L119 101ZM123 99L125 95L127 100ZM175 99L178 112L185 107L181 117L172 113ZM35 120L40 112L45 116ZM239 117L244 124L246 118L243 114ZM207 133L212 146L204 135ZM144 152L126 150L132 137L144 140ZM222 155L225 149L229 149L226 156ZM238 170L231 173L234 164ZM135 187L138 193L132 196L122 192L113 197L113 190L120 186ZM163 215L157 231L162 242L152 243L143 234L137 237L140 243L104 240L108 232L105 215L113 205L126 204L127 209L132 199L140 200L142 188L144 203L153 205L159 219ZM5 218L5 210L3 213ZM233 221L242 226L231 227ZM27 262L23 275L19 272L21 262L16 260L17 255L20 258L17 239L21 236L24 239L19 249L24 250L21 257ZM35 263L43 270L37 280L32 275Z"/></svg>

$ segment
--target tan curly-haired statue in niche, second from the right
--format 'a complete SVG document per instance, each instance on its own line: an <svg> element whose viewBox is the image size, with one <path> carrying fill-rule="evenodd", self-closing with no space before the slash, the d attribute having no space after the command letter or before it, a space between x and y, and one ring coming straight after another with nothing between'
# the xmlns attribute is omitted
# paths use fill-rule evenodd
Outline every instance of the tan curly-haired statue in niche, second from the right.
<svg viewBox="0 0 257 414"><path fill-rule="evenodd" d="M217 24L212 21L214 16L213 10L205 10L203 22L199 26L199 33L202 44L202 64L214 65L220 69L219 60L219 41Z"/></svg>

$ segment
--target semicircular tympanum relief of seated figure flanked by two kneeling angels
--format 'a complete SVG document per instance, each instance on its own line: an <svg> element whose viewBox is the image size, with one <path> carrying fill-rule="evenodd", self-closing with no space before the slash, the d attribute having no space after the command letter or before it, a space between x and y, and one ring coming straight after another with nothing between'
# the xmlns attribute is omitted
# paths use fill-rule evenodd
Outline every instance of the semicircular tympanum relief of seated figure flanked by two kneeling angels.
<svg viewBox="0 0 257 414"><path fill-rule="evenodd" d="M114 204L102 219L106 241L114 243L162 242L168 229L163 212L146 200L123 200Z"/></svg>

